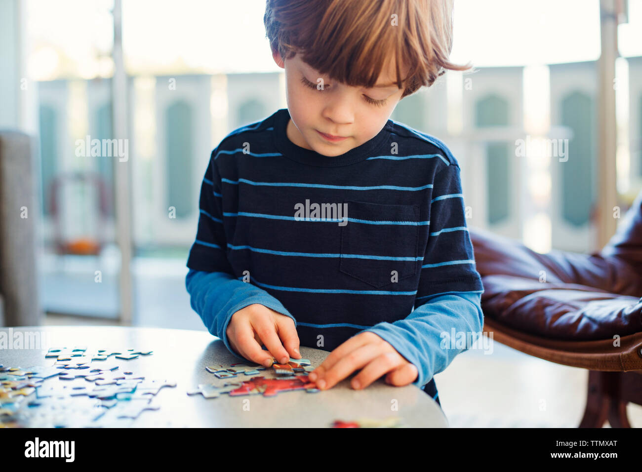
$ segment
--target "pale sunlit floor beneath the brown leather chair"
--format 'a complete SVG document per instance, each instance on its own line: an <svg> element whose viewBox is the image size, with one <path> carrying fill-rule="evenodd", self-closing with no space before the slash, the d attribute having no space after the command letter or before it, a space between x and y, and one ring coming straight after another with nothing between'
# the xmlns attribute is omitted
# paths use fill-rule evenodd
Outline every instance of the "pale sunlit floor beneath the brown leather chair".
<svg viewBox="0 0 642 472"><path fill-rule="evenodd" d="M435 375L448 421L460 428L577 428L586 406L588 371L548 362L495 342L471 349ZM489 350L490 351L490 350ZM642 428L642 406L627 406Z"/></svg>

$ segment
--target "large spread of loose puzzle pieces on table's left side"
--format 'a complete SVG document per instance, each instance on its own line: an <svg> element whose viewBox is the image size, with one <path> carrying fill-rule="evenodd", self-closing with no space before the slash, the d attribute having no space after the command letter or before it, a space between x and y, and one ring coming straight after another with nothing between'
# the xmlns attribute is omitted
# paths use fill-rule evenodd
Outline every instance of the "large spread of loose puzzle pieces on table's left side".
<svg viewBox="0 0 642 472"><path fill-rule="evenodd" d="M45 354L54 361L49 367L0 365L0 427L130 426L144 410L157 410L150 399L176 383L145 381L144 376L117 372L118 365L102 362L110 357L128 360L149 354L152 351L134 348L87 351L86 347L60 347ZM96 360L101 362L92 363ZM31 399L22 401L28 396ZM115 413L103 421L103 414L112 409Z"/></svg>

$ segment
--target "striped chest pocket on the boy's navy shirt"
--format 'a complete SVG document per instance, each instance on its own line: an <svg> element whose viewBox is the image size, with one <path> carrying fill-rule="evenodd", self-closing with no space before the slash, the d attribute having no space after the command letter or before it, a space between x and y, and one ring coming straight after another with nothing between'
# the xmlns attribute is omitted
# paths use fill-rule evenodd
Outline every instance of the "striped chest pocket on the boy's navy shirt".
<svg viewBox="0 0 642 472"><path fill-rule="evenodd" d="M381 288L417 273L419 206L346 200L339 270Z"/></svg>

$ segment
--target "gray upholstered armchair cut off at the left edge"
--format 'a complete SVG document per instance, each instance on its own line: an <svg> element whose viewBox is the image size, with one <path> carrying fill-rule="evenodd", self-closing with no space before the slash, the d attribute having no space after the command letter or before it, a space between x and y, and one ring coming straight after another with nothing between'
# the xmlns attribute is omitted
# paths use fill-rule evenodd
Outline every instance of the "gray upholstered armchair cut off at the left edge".
<svg viewBox="0 0 642 472"><path fill-rule="evenodd" d="M40 220L36 149L33 137L0 130L0 326L42 323L36 263Z"/></svg>

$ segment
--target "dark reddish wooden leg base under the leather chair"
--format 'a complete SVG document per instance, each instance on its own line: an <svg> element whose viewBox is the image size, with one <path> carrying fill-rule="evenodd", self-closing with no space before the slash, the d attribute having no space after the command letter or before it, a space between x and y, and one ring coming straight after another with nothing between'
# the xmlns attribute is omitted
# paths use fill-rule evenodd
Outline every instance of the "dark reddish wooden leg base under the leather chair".
<svg viewBox="0 0 642 472"><path fill-rule="evenodd" d="M627 401L620 396L621 372L589 371L586 409L580 428L602 428L609 420L612 428L630 428Z"/></svg>

